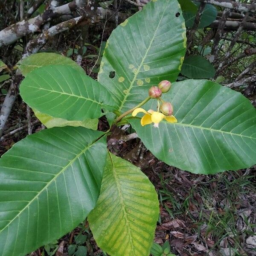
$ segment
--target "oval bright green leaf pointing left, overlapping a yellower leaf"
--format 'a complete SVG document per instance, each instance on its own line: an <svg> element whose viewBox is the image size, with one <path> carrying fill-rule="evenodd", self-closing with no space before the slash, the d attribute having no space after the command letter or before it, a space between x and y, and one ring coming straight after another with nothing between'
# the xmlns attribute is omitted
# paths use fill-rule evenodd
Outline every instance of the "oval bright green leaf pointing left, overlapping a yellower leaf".
<svg viewBox="0 0 256 256"><path fill-rule="evenodd" d="M20 84L20 95L31 108L69 121L98 118L102 108L113 109L108 90L68 65L31 71Z"/></svg>

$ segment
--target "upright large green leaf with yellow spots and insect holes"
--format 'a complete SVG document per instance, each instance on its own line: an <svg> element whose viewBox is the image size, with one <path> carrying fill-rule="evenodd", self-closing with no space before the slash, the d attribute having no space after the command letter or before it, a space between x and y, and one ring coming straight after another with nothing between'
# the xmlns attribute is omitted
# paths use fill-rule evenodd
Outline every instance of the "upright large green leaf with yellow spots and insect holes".
<svg viewBox="0 0 256 256"><path fill-rule="evenodd" d="M186 27L177 0L150 1L111 33L98 81L114 96L118 111L125 112L145 99L152 85L176 81L185 50Z"/></svg>

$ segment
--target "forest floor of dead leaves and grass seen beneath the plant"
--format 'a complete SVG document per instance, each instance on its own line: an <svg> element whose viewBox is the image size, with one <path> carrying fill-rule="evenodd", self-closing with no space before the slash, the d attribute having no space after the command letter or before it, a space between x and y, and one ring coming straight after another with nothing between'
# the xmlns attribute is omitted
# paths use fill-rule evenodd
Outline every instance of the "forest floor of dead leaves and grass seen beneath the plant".
<svg viewBox="0 0 256 256"><path fill-rule="evenodd" d="M83 67L87 71L88 63L83 62ZM0 96L0 101L3 99L4 96ZM32 122L36 120L32 116ZM26 105L18 98L5 134L26 122ZM103 119L99 128L104 129L105 125ZM33 133L41 129L41 124L37 123ZM26 135L27 131L23 129L6 137L0 144L0 154ZM160 218L155 242L169 241L172 253L180 256L256 255L256 166L218 175L195 175L157 160L137 139L121 145L111 144L109 150L139 166L156 187ZM88 223L84 221L31 256L67 256L68 248L77 246L86 246L89 256L106 255L97 247Z"/></svg>

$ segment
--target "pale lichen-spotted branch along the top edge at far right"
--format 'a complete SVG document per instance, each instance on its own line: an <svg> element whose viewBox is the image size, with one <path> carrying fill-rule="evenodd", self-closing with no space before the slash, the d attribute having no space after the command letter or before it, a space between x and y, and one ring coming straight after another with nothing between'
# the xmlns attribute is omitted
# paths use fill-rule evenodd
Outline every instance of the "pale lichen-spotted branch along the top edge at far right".
<svg viewBox="0 0 256 256"><path fill-rule="evenodd" d="M235 9L239 12L256 12L256 4L252 6L246 3L238 3L231 0L195 0L197 2L211 3L228 9Z"/></svg>

